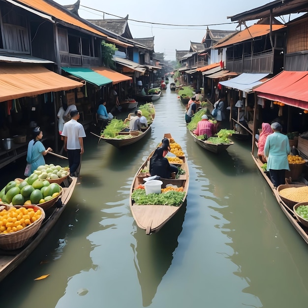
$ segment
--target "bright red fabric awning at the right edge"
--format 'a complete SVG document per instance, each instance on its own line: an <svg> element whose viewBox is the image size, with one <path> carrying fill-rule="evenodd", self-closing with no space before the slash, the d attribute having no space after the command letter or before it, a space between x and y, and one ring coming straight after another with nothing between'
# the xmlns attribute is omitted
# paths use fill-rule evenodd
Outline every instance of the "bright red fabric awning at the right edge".
<svg viewBox="0 0 308 308"><path fill-rule="evenodd" d="M282 71L253 89L259 97L277 100L289 106L308 109L308 71Z"/></svg>

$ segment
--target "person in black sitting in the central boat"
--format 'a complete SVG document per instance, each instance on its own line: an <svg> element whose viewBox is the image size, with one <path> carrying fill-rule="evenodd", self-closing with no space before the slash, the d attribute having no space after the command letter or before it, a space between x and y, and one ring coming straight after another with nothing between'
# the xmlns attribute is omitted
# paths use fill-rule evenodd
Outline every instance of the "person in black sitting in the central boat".
<svg viewBox="0 0 308 308"><path fill-rule="evenodd" d="M168 159L165 158L170 150L168 138L161 141L161 147L157 148L150 159L150 173L151 176L157 175L164 179L170 179L172 173L178 174L179 169L177 166L170 164Z"/></svg>

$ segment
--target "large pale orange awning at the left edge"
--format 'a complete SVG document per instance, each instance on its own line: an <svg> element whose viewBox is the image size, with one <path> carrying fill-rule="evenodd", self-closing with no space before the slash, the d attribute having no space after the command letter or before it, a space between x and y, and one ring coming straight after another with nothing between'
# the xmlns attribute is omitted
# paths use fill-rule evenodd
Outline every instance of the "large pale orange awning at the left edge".
<svg viewBox="0 0 308 308"><path fill-rule="evenodd" d="M67 91L82 86L82 83L40 65L0 66L0 102L47 92Z"/></svg>

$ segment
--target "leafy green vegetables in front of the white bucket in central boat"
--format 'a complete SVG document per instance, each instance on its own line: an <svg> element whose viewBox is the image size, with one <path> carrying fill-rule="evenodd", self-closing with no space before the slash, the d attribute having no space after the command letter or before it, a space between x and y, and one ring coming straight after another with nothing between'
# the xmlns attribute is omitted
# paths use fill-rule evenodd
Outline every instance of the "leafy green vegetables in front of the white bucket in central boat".
<svg viewBox="0 0 308 308"><path fill-rule="evenodd" d="M145 189L135 189L131 198L137 205L172 205L179 206L183 203L185 192L182 191L168 191L165 193L149 193L146 195Z"/></svg>

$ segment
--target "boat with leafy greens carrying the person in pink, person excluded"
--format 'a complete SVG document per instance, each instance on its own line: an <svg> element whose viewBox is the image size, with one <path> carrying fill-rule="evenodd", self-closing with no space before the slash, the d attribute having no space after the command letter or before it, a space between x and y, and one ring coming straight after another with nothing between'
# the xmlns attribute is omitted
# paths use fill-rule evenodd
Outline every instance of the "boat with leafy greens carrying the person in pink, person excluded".
<svg viewBox="0 0 308 308"><path fill-rule="evenodd" d="M205 110L200 110L196 112L196 114L192 117L190 123L188 123L187 128L189 130L190 135L192 136L193 140L202 148L213 152L219 153L221 151L226 150L228 147L234 144L233 141L229 139L232 134L235 133L234 130L231 129L220 129L217 134L213 137L208 138L206 135L197 136L193 133L193 130L197 128L197 124L201 121L201 117L206 113ZM210 115L208 115L210 117ZM217 123L215 119L208 120L213 122L214 124Z"/></svg>

